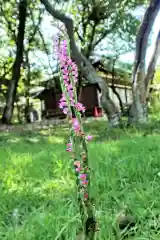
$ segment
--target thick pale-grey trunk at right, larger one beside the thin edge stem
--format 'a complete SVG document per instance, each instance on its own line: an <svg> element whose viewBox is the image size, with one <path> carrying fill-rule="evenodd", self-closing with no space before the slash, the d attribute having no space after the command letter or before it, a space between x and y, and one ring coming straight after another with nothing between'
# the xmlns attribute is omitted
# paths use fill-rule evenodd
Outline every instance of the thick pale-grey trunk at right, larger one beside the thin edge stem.
<svg viewBox="0 0 160 240"><path fill-rule="evenodd" d="M151 0L137 34L136 56L132 83L133 104L129 111L129 124L144 123L148 120L145 84L145 58L149 35L159 9L160 1Z"/></svg>

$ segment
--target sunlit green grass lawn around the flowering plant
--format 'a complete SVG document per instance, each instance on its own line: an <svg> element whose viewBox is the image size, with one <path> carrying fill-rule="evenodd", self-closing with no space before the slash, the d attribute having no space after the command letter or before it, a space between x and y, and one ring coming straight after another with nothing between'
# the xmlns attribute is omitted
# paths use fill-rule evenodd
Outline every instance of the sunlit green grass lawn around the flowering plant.
<svg viewBox="0 0 160 240"><path fill-rule="evenodd" d="M114 131L105 125L85 124L94 137L88 148L98 239L122 239L113 228L127 209L137 221L127 239L159 240L160 125ZM0 133L0 239L76 239L80 216L67 136L66 126Z"/></svg>

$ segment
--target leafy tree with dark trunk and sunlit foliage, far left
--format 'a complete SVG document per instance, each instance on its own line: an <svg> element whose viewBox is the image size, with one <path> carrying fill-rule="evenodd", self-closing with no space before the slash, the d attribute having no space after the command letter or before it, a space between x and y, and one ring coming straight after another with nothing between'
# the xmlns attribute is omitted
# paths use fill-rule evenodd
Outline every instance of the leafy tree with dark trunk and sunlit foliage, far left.
<svg viewBox="0 0 160 240"><path fill-rule="evenodd" d="M22 1L23 2L23 1ZM43 70L42 64L41 68L39 67L37 71L38 64L36 63L36 58L33 57L36 51L44 52L49 54L48 45L46 44L43 34L41 32L41 22L44 17L42 8L38 1L32 2L27 0L27 18L25 21L25 35L24 35L24 46L22 61L20 67L19 79L17 79L16 95L11 101L11 95L9 95L9 89L11 85L14 85L12 68L14 67L14 60L16 58L16 49L17 49L17 40L18 40L18 26L19 26L19 16L18 16L18 6L21 1L12 0L10 2L1 1L1 16L0 24L3 29L2 31L2 40L0 43L0 50L2 50L2 55L5 57L1 58L1 68L0 71L0 92L5 94L3 100L7 100L6 108L4 110L4 115L6 115L6 109L12 109L14 107L14 102L18 100L20 94L26 96L27 105L29 107L29 90L34 85L38 84L37 79L40 79L42 75L40 72ZM3 51L5 49L5 51ZM17 57L19 59L19 57ZM7 67L7 70L6 70ZM45 67L45 66L44 66ZM50 67L51 68L51 67ZM6 72L7 71L7 72ZM3 88L2 88L3 86ZM8 88L9 86L9 88ZM18 86L18 88L17 88ZM8 89L8 91L7 91ZM7 98L6 98L6 92ZM11 106L12 105L12 106ZM26 106L27 107L27 106ZM9 110L8 110L9 111ZM13 111L11 110L10 115ZM3 122L10 123L11 116L9 114L6 116L3 115ZM8 116L8 120L6 117Z"/></svg>

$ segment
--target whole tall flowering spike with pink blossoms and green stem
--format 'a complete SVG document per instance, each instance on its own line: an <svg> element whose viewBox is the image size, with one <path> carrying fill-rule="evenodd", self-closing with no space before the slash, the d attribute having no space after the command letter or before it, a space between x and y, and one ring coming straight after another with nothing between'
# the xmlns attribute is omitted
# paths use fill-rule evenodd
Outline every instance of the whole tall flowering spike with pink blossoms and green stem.
<svg viewBox="0 0 160 240"><path fill-rule="evenodd" d="M90 169L88 166L87 143L92 136L85 136L81 113L85 112L83 104L78 102L76 84L78 82L78 69L71 60L69 51L69 39L65 33L59 35L54 43L59 61L60 83L62 97L59 107L68 116L70 125L70 138L66 151L71 152L73 166L77 179L78 202L82 219L84 239L94 239L96 232L96 220L94 206L90 199ZM73 118L74 113L74 118Z"/></svg>

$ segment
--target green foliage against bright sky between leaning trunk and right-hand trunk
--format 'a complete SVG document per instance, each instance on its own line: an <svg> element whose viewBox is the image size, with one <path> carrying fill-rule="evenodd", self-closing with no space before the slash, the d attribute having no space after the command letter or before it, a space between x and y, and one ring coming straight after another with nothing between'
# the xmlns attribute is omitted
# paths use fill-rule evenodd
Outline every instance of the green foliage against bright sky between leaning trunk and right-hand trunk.
<svg viewBox="0 0 160 240"><path fill-rule="evenodd" d="M144 3L145 1L123 0L72 1L70 13L82 53L88 58L96 48L99 48L100 43L106 45L105 42L109 39L112 39L112 42L120 40L121 44L118 41L117 46L123 46L125 51L133 48L139 20L131 12Z"/></svg>

